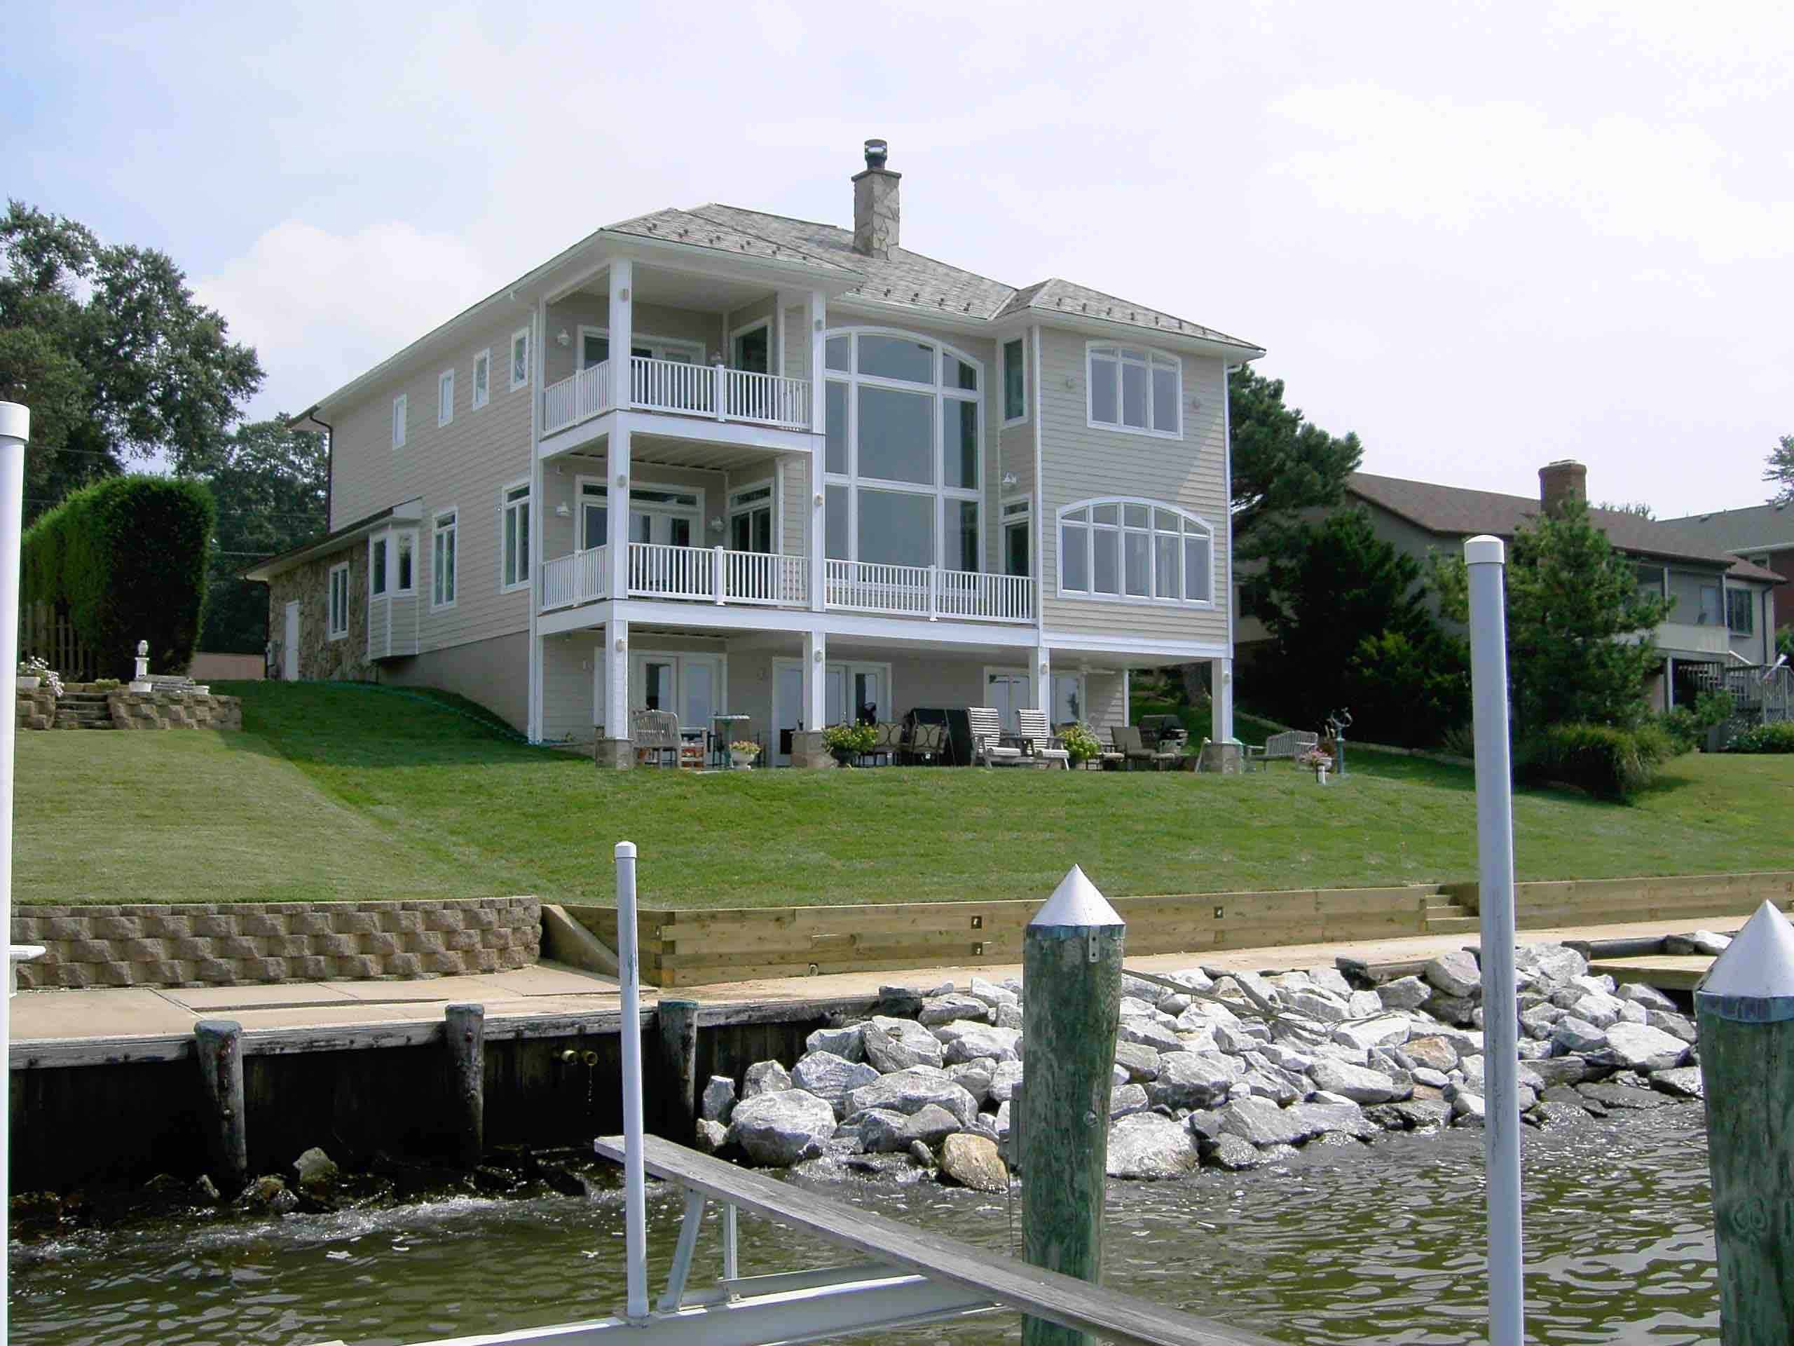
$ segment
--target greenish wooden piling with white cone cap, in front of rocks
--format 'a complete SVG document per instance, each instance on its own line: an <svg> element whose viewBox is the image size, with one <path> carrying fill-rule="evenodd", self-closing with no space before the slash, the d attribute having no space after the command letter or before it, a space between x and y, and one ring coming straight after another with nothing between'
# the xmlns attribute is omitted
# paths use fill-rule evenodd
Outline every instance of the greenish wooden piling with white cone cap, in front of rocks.
<svg viewBox="0 0 1794 1346"><path fill-rule="evenodd" d="M1098 1283L1109 1177L1109 1071L1121 1012L1127 924L1076 865L1023 933L1028 1088L1021 1154L1023 1256ZM1014 1122L1012 1122L1014 1125ZM1023 1319L1023 1346L1094 1346L1089 1333Z"/></svg>

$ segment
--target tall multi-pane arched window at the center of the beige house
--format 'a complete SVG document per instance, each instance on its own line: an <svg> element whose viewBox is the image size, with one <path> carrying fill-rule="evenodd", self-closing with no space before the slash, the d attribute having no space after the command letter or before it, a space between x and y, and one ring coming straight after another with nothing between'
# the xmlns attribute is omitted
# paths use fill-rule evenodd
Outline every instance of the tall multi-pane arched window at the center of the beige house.
<svg viewBox="0 0 1794 1346"><path fill-rule="evenodd" d="M983 364L875 327L829 332L825 364L825 555L983 569Z"/></svg>

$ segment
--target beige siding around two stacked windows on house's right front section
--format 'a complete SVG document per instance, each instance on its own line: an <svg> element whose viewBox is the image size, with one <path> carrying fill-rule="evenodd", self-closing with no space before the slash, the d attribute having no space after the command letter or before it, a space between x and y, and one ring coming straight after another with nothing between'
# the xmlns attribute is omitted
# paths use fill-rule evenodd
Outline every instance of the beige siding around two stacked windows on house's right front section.
<svg viewBox="0 0 1794 1346"><path fill-rule="evenodd" d="M1150 345L1150 343L1139 343ZM1222 361L1182 355L1182 438L1091 427L1085 404L1085 337L1041 332L1041 594L1046 628L1136 635L1148 641L1227 641L1227 443ZM1193 407L1191 402L1200 406ZM1017 470L1017 476L1021 472ZM1215 531L1215 608L1058 598L1062 506L1094 495L1134 495L1177 504Z"/></svg>

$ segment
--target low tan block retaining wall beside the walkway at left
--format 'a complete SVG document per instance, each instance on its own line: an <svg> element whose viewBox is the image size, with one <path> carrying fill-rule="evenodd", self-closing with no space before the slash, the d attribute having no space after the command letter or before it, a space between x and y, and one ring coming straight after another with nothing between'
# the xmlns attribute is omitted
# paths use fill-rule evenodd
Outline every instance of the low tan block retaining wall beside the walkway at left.
<svg viewBox="0 0 1794 1346"><path fill-rule="evenodd" d="M27 906L20 987L264 985L452 976L526 967L542 944L535 897L398 903Z"/></svg>

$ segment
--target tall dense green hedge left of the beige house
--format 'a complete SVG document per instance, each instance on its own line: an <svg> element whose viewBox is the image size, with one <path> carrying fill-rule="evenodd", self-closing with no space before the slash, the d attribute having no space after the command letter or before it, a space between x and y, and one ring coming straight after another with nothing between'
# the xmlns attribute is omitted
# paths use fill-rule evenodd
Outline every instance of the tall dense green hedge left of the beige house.
<svg viewBox="0 0 1794 1346"><path fill-rule="evenodd" d="M23 590L68 614L102 673L131 677L136 642L154 673L185 669L206 601L212 492L178 477L109 477L25 529Z"/></svg>

